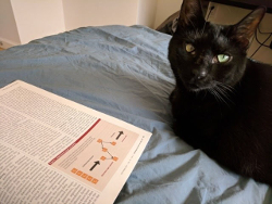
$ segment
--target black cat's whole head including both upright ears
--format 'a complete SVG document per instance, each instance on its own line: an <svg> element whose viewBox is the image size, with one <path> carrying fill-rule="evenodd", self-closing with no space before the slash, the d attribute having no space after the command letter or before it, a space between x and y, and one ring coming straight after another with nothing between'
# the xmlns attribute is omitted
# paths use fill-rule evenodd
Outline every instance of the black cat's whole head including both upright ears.
<svg viewBox="0 0 272 204"><path fill-rule="evenodd" d="M198 0L184 0L177 30L171 39L169 60L176 77L189 91L236 85L246 68L249 39L263 12L232 26L205 22ZM250 21L248 21L250 20ZM250 29L250 30L248 30Z"/></svg>

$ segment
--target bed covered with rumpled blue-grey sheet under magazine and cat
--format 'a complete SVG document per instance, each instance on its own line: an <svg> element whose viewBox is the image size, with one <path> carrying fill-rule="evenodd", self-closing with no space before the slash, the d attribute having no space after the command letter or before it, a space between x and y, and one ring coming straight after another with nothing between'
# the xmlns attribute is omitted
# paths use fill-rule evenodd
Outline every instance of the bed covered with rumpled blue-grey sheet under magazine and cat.
<svg viewBox="0 0 272 204"><path fill-rule="evenodd" d="M0 87L21 79L152 132L115 203L271 204L270 187L222 168L173 133L170 39L115 25L37 39L0 52Z"/></svg>

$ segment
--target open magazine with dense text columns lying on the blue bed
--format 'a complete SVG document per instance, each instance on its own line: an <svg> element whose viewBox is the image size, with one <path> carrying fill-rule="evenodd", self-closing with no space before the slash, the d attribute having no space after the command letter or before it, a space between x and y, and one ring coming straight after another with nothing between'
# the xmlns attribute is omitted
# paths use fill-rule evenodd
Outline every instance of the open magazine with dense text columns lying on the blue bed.
<svg viewBox="0 0 272 204"><path fill-rule="evenodd" d="M113 203L150 132L16 80L0 89L0 203Z"/></svg>

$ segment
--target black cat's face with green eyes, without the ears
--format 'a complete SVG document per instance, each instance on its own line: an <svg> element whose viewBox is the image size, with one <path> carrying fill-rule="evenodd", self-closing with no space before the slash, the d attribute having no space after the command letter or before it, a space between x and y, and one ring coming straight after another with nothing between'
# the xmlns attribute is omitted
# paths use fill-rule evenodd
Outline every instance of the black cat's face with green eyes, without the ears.
<svg viewBox="0 0 272 204"><path fill-rule="evenodd" d="M233 86L243 76L246 49L228 39L228 29L207 23L205 30L188 27L171 40L170 62L188 90L209 89L220 82Z"/></svg>

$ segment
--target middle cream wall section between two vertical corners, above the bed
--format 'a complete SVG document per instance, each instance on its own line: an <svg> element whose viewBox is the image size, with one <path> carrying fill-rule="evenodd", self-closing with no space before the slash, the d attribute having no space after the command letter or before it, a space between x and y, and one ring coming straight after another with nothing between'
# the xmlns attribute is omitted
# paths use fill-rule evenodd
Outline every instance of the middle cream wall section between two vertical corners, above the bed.
<svg viewBox="0 0 272 204"><path fill-rule="evenodd" d="M63 0L65 27L134 25L137 8L138 0Z"/></svg>

